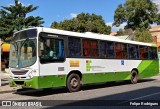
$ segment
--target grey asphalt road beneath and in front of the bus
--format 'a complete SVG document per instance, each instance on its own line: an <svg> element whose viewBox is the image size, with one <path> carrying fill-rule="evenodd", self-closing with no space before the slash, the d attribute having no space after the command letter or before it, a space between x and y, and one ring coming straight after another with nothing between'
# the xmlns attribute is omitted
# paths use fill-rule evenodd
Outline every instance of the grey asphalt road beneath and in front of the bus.
<svg viewBox="0 0 160 109"><path fill-rule="evenodd" d="M87 106L88 108L124 108L132 105L130 108L160 108L160 76L140 80L137 84L130 84L129 81L115 83L105 83L96 85L86 85L81 91L68 93L65 88L48 90L18 90L14 93L0 94L0 100L48 100L42 102L44 108L62 108L57 105ZM84 101L87 100L87 101ZM136 100L136 101L133 101ZM142 100L142 101L139 101ZM148 100L148 101L144 101ZM147 104L150 102L152 104ZM150 105L159 106L150 106ZM78 105L78 106L77 106ZM120 105L120 106L119 106ZM89 107L88 107L89 106ZM27 108L27 107L26 107ZM68 107L69 108L69 107ZM13 107L12 107L13 109Z"/></svg>

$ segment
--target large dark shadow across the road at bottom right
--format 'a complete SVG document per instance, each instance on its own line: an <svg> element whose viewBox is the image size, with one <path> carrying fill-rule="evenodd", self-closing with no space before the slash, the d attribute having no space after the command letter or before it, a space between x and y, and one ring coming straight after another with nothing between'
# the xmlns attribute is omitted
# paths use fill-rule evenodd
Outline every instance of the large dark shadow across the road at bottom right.
<svg viewBox="0 0 160 109"><path fill-rule="evenodd" d="M148 87L88 100L43 101L45 109L160 109L160 87ZM136 103L136 104L135 104Z"/></svg>

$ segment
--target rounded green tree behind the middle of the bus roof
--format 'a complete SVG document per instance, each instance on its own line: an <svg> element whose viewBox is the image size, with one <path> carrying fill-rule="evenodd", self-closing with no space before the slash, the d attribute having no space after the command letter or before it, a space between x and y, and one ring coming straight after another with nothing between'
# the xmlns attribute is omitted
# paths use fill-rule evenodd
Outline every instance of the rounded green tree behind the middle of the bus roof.
<svg viewBox="0 0 160 109"><path fill-rule="evenodd" d="M60 23L53 22L51 28L63 29L74 32L94 32L110 34L111 27L106 26L102 16L81 13L76 18L64 20Z"/></svg>

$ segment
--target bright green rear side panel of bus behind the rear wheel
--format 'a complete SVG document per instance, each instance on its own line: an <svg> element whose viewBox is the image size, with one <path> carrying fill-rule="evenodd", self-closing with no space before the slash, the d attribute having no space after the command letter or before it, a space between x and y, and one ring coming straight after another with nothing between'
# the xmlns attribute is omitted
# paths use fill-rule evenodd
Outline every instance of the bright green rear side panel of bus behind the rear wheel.
<svg viewBox="0 0 160 109"><path fill-rule="evenodd" d="M158 60L143 60L138 66L139 78L155 76L159 73Z"/></svg>

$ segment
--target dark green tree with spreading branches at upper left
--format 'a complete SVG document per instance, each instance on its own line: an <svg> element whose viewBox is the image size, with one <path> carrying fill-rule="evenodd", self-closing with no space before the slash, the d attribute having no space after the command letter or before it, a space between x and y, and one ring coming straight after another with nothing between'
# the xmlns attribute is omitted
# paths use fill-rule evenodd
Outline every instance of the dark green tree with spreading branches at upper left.
<svg viewBox="0 0 160 109"><path fill-rule="evenodd" d="M38 6L23 6L18 0L14 1L15 5L10 5L8 7L1 6L0 38L3 40L6 40L7 37L11 37L14 31L19 31L30 26L40 26L44 23L44 21L42 21L43 18L39 16L26 16L28 13L38 9Z"/></svg>

